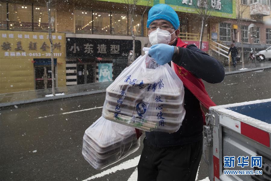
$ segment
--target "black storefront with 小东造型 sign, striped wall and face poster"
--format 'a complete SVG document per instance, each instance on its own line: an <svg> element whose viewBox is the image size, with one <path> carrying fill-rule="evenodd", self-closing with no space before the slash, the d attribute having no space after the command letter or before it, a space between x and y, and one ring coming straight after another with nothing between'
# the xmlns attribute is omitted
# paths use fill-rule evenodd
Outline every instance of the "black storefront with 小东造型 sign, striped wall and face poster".
<svg viewBox="0 0 271 181"><path fill-rule="evenodd" d="M141 55L136 40L135 56ZM66 37L66 85L114 80L127 67L132 40Z"/></svg>

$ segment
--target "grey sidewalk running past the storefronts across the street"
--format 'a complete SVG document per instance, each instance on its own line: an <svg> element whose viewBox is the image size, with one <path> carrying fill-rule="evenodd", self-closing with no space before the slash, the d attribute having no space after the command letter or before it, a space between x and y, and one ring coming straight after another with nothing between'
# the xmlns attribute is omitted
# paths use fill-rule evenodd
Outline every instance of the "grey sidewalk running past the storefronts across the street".
<svg viewBox="0 0 271 181"><path fill-rule="evenodd" d="M225 66L225 75L232 75L236 73L244 73L255 70L270 69L271 62L264 61L263 63L245 63L245 69L242 68L240 62L237 63L236 67ZM55 99L64 99L69 97L84 96L90 94L97 94L106 92L106 88L112 83L110 82L99 82L99 83L89 83L80 84L75 86L58 87L55 89L56 96L50 96L52 94L52 89L39 89L24 92L13 92L0 94L0 108L7 106L16 106L20 104L29 104L34 102L45 102Z"/></svg>

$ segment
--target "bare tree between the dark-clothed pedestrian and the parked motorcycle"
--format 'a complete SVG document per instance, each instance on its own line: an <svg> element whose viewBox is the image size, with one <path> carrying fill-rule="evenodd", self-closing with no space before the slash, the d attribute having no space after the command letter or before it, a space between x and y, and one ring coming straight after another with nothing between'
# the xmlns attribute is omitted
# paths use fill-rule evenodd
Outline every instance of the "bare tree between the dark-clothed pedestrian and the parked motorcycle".
<svg viewBox="0 0 271 181"><path fill-rule="evenodd" d="M242 68L244 69L244 46L243 46L243 32L241 30L241 25L243 23L243 15L244 12L247 10L249 6L241 5L241 2L236 2L236 8L237 8L237 24L238 24L238 32L240 32L241 36L241 53L242 53Z"/></svg>

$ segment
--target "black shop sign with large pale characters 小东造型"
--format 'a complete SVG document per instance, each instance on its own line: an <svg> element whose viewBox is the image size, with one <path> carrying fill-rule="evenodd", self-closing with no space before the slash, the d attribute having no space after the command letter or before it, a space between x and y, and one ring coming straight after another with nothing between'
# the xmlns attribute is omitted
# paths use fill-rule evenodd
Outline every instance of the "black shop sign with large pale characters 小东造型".
<svg viewBox="0 0 271 181"><path fill-rule="evenodd" d="M141 42L135 41L136 57L141 55ZM128 57L132 40L66 38L67 57Z"/></svg>

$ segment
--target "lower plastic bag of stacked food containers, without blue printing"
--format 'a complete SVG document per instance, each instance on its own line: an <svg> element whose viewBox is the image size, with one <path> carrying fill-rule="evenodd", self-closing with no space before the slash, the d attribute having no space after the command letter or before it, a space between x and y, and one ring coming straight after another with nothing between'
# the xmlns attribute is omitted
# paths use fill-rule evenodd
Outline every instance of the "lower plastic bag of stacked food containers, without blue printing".
<svg viewBox="0 0 271 181"><path fill-rule="evenodd" d="M85 131L82 154L100 170L134 153L139 146L134 128L100 117Z"/></svg>

